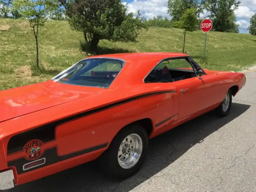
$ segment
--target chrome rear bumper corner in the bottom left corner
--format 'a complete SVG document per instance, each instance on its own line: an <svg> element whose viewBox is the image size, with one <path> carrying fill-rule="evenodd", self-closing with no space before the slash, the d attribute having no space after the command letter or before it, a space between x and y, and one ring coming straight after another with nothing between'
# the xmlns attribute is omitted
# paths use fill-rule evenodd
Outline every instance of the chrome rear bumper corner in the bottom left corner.
<svg viewBox="0 0 256 192"><path fill-rule="evenodd" d="M11 188L14 188L13 170L0 172L0 190L7 190Z"/></svg>

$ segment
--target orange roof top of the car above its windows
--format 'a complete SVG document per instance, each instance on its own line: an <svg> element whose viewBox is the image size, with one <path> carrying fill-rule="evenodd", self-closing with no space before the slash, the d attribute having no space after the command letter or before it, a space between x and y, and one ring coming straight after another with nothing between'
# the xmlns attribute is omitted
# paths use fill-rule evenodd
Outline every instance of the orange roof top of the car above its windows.
<svg viewBox="0 0 256 192"><path fill-rule="evenodd" d="M172 58L172 57L186 57L187 54L183 53L175 53L175 52L135 52L135 53L118 53L118 54L105 54L98 56L90 56L88 58L117 58L122 60L140 60L146 58L155 58L158 60L162 60L164 58Z"/></svg>

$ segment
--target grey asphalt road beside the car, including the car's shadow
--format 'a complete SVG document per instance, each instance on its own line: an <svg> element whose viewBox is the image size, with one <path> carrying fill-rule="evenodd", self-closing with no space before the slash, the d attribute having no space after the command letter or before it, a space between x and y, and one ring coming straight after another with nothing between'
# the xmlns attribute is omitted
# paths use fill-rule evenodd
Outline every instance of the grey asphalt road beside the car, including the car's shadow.
<svg viewBox="0 0 256 192"><path fill-rule="evenodd" d="M8 192L256 192L256 72L233 98L229 116L211 112L150 141L138 174L106 178L90 162Z"/></svg>

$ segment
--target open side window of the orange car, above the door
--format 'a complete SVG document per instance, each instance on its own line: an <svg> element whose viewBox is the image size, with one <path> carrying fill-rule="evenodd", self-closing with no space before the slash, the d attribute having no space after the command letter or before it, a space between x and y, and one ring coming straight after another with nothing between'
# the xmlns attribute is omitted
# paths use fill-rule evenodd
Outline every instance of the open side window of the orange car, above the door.
<svg viewBox="0 0 256 192"><path fill-rule="evenodd" d="M188 58L175 58L159 63L145 78L146 83L175 82L196 76Z"/></svg>

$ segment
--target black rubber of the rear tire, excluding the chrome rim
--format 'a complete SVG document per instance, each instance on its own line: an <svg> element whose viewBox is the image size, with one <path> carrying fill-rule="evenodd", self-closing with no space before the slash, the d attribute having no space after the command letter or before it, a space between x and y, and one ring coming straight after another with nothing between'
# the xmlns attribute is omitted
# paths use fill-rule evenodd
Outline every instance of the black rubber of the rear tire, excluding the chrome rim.
<svg viewBox="0 0 256 192"><path fill-rule="evenodd" d="M142 154L138 162L129 169L124 169L118 162L118 150L122 141L130 134L138 134L142 139ZM140 124L124 127L112 140L109 148L98 158L98 166L113 179L123 180L138 172L148 153L148 134Z"/></svg>

